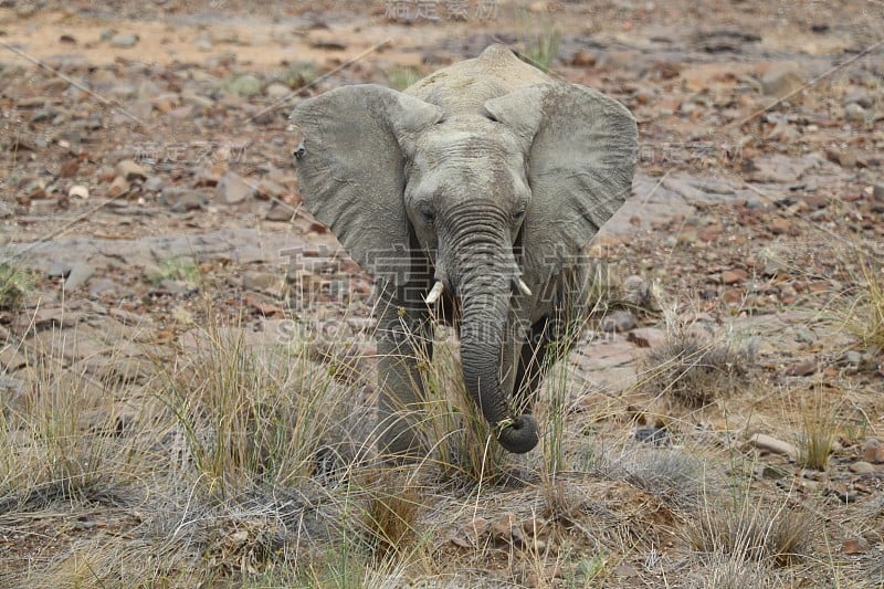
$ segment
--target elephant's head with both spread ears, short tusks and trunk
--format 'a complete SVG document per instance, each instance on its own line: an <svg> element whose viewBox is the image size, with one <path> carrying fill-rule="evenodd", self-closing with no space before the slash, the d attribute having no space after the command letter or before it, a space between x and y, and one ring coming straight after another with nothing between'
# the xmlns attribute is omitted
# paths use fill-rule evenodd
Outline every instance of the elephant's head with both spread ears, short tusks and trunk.
<svg viewBox="0 0 884 589"><path fill-rule="evenodd" d="M460 304L465 386L499 443L527 452L536 424L514 417L502 386L508 317L516 299L527 313L549 304L550 281L623 202L636 127L596 91L514 67L537 77L480 72L407 93L345 86L304 101L292 118L307 209L377 276L402 262L378 252L402 244L412 266L422 257L432 274L411 276L402 292L430 291L430 303L444 292Z"/></svg>

